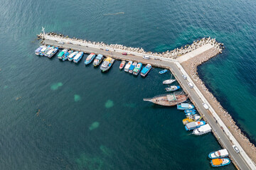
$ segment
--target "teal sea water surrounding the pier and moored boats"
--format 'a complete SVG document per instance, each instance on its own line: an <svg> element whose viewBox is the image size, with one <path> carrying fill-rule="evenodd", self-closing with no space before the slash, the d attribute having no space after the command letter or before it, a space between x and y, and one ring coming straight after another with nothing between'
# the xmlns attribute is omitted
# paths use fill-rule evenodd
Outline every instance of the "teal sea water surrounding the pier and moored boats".
<svg viewBox="0 0 256 170"><path fill-rule="evenodd" d="M41 26L87 40L165 51L210 36L225 44L201 78L255 142L255 1L2 1L1 169L210 169L213 135L195 137L146 79L34 55ZM105 16L106 13L119 15ZM32 41L32 42L31 42ZM223 169L234 169L233 165Z"/></svg>

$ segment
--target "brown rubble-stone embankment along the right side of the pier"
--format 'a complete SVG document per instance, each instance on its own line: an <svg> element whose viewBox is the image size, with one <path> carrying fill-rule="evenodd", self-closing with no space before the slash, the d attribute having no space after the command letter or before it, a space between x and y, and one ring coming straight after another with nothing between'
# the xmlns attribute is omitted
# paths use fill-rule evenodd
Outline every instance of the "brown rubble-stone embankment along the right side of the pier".
<svg viewBox="0 0 256 170"><path fill-rule="evenodd" d="M215 98L215 96L213 96L213 94L206 88L206 85L203 83L203 81L198 77L198 65L210 60L210 58L215 55L218 55L218 50L216 48L212 48L201 55L198 55L186 62L183 62L181 65L183 65L183 68L189 74L191 79L193 79L198 89L200 89L202 94L207 98L210 105L213 106L216 113L220 116L221 120L223 120L230 132L232 132L235 139L238 140L242 148L245 149L245 152L254 162L256 162L255 145L250 142L250 140L245 136L242 130L240 130L238 125L236 125L232 116L228 113L228 111L225 111L225 109L220 105L220 102Z"/></svg>

